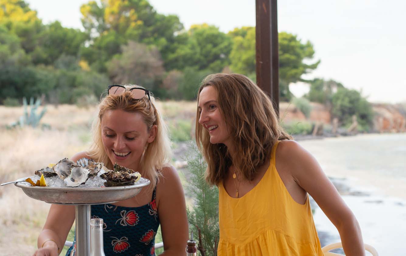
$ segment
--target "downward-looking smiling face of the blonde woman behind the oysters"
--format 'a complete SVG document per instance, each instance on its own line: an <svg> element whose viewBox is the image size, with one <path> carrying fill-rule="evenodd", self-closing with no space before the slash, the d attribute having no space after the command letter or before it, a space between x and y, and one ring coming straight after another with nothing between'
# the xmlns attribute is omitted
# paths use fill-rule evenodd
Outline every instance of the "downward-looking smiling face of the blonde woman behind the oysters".
<svg viewBox="0 0 406 256"><path fill-rule="evenodd" d="M102 116L102 142L110 161L135 171L147 143L153 142L157 126L148 130L137 112L107 110Z"/></svg>

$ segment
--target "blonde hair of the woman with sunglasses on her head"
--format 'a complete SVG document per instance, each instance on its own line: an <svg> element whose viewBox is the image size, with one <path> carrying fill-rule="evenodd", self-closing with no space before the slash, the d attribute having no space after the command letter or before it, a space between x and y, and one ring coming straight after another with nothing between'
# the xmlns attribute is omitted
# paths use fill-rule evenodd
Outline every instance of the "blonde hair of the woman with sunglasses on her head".
<svg viewBox="0 0 406 256"><path fill-rule="evenodd" d="M126 84L125 88L143 88L137 85ZM169 166L171 156L171 146L168 137L168 128L162 119L161 114L155 107L155 99L150 95L141 99L133 99L132 93L125 90L119 95L107 95L102 98L99 105L99 113L92 125L93 144L86 151L87 155L97 162L103 162L104 165L112 170L113 163L103 147L101 121L107 110L123 110L126 112L139 113L143 116L148 131L153 125L157 126L155 140L147 143L140 161L140 169L144 170L144 176L151 181L151 187L155 187L158 177L161 176L160 170Z"/></svg>

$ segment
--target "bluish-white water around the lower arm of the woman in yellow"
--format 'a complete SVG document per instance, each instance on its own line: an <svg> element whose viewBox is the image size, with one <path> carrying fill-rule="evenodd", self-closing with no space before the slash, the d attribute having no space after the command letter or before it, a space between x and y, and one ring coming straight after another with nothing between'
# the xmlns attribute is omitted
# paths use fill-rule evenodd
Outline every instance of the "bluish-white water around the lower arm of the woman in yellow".
<svg viewBox="0 0 406 256"><path fill-rule="evenodd" d="M329 178L354 213L364 243L374 247L380 255L400 255L404 252L401 242L406 236L399 227L406 226L406 200L363 191L349 185L346 179ZM311 197L310 204L321 246L340 242L337 228ZM342 249L333 252L344 254Z"/></svg>

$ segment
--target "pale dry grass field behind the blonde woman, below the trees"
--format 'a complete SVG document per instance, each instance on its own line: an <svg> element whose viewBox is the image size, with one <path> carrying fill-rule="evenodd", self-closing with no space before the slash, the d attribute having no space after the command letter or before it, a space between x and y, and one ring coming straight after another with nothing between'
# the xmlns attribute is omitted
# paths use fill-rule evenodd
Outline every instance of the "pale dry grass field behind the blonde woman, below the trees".
<svg viewBox="0 0 406 256"><path fill-rule="evenodd" d="M166 120L194 118L196 102L158 102ZM42 107L40 107L40 110ZM30 127L13 130L5 125L22 116L22 107L0 106L0 183L33 175L35 170L63 157L86 150L91 143L90 125L97 107L47 106L41 123L50 130ZM0 187L0 254L32 255L50 204L34 200L13 185Z"/></svg>

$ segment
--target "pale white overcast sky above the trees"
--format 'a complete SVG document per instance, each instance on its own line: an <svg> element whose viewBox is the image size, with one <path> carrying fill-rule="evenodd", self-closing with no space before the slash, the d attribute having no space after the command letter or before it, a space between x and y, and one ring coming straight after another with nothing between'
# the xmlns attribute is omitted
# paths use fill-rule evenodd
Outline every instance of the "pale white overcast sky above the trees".
<svg viewBox="0 0 406 256"><path fill-rule="evenodd" d="M85 0L26 0L45 24L82 28ZM188 29L208 23L228 32L255 26L254 0L149 0L163 14L176 14ZM319 67L306 77L334 79L362 90L369 101L406 101L406 1L278 1L278 29L309 40ZM300 96L307 86L292 86Z"/></svg>

